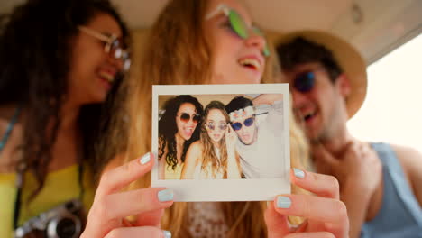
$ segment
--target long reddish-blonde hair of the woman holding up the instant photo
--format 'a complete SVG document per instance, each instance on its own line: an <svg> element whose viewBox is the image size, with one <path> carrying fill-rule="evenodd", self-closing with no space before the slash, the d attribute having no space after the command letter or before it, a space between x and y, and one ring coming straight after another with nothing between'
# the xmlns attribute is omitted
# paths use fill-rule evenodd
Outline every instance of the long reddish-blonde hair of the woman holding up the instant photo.
<svg viewBox="0 0 422 238"><path fill-rule="evenodd" d="M211 51L206 43L203 19L208 1L171 0L153 24L142 59L134 60L132 77L122 89L117 102L109 137L100 146L105 158L124 152L124 163L151 151L151 86L205 84L211 78ZM280 82L280 69L273 46L267 58L262 83ZM304 168L307 146L302 132L290 115L291 165ZM301 159L301 160L300 160ZM116 164L116 163L114 163ZM151 186L151 173L136 181L131 188ZM131 189L129 188L129 189ZM293 187L293 192L298 188ZM227 237L265 237L266 202L220 203L229 227ZM189 237L187 203L175 203L166 209L161 227L173 237Z"/></svg>

